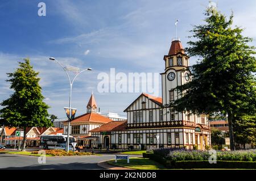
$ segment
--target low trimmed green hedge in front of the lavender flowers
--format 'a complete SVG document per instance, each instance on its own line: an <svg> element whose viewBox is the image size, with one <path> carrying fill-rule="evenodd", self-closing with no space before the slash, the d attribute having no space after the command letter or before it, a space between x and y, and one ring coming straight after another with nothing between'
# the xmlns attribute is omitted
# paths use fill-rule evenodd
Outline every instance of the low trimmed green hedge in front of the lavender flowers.
<svg viewBox="0 0 256 181"><path fill-rule="evenodd" d="M167 162L168 169L256 169L256 162L248 161L177 161Z"/></svg>

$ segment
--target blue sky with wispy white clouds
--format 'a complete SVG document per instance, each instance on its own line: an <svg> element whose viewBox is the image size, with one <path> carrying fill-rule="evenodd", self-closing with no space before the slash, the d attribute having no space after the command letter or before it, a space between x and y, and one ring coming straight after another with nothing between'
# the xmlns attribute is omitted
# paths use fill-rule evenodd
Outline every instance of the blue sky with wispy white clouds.
<svg viewBox="0 0 256 181"><path fill-rule="evenodd" d="M46 5L46 16L39 16L39 2ZM217 9L229 16L234 13L234 25L245 28L244 36L253 38L256 46L256 1L213 1ZM209 1L19 1L0 3L0 101L9 98L12 90L7 75L15 71L18 61L30 58L39 71L40 86L48 112L64 118L63 107L69 103L69 82L65 72L49 57L63 64L92 68L81 73L73 83L72 107L77 115L86 112L93 94L101 113L123 110L141 92L100 92L100 73L162 73L164 54L172 38L177 36L187 47L189 30L204 23L204 10ZM196 58L190 58L190 65ZM72 76L72 72L69 72ZM159 76L160 80L160 76ZM115 81L117 82L117 80ZM161 86L159 81L159 94Z"/></svg>

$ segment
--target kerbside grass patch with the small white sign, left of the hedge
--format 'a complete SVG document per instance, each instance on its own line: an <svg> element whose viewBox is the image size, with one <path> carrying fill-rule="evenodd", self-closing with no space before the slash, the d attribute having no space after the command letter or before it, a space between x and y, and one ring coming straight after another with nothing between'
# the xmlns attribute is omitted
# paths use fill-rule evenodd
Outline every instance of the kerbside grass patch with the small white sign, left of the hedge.
<svg viewBox="0 0 256 181"><path fill-rule="evenodd" d="M166 169L163 165L160 165L158 162L155 162L149 158L130 158L130 163L127 163L127 159L118 159L117 163L112 159L108 161L110 165L127 167L130 169L138 169L138 170L159 170Z"/></svg>

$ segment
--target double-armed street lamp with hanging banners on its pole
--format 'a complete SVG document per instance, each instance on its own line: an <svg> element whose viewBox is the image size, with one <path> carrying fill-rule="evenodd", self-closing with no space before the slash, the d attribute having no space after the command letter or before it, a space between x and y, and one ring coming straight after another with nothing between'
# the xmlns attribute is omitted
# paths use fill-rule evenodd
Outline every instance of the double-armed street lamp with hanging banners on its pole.
<svg viewBox="0 0 256 181"><path fill-rule="evenodd" d="M63 68L63 70L65 71L65 73L68 76L69 79L69 85L70 85L70 91L69 91L69 107L64 107L64 110L67 114L68 117L68 136L67 136L67 151L69 151L69 127L70 127L70 122L72 119L75 118L75 114L76 114L76 109L75 108L71 108L71 93L72 93L72 85L73 82L75 81L77 75L79 75L80 73L82 73L85 70L92 70L91 68L88 69L80 69L80 68L76 68L75 66L71 66L71 65L65 65L65 64L61 64L59 61L57 61L54 57L50 57L49 60L55 61L57 64L59 64L61 66L61 68ZM69 77L68 71L73 71L73 73L75 73L75 77L73 78L73 80L71 81L71 78Z"/></svg>

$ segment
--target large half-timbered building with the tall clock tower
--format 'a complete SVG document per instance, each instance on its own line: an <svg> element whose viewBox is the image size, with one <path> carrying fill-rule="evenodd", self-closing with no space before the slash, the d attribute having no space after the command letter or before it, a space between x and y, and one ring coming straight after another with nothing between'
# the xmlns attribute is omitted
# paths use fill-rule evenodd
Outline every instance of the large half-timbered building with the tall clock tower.
<svg viewBox="0 0 256 181"><path fill-rule="evenodd" d="M210 125L206 115L175 112L166 106L182 96L177 94L175 87L191 79L189 72L185 70L189 57L179 39L172 41L163 60L162 97L144 93L139 95L125 109L127 123L108 123L91 131L92 136L98 137L97 145L124 149L129 146L135 149L158 146L192 149L197 145L202 150L211 146Z"/></svg>

